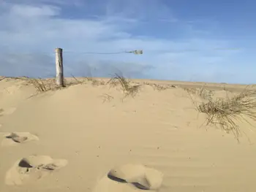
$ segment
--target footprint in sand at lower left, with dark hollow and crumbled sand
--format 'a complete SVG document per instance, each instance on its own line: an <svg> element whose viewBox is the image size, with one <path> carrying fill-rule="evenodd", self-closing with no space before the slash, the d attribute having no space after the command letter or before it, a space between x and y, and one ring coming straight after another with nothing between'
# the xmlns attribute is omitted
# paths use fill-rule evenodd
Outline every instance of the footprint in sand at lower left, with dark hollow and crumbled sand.
<svg viewBox="0 0 256 192"><path fill-rule="evenodd" d="M15 162L7 171L5 184L23 185L34 183L64 166L67 166L67 160L65 159L53 159L47 155L31 155Z"/></svg>

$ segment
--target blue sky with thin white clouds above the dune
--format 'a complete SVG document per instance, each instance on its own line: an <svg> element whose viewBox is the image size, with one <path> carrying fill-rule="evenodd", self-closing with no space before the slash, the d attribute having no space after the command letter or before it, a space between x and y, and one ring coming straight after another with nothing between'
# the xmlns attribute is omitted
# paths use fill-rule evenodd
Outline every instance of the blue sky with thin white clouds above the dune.
<svg viewBox="0 0 256 192"><path fill-rule="evenodd" d="M256 1L0 1L0 75L256 83ZM143 55L116 53L143 50Z"/></svg>

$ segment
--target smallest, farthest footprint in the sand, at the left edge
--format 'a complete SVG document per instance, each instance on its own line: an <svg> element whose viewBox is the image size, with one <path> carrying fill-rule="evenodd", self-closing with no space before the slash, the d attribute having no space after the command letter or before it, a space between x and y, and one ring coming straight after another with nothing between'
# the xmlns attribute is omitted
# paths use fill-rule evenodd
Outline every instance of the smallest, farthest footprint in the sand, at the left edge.
<svg viewBox="0 0 256 192"><path fill-rule="evenodd" d="M29 132L12 132L4 134L4 139L1 142L2 146L18 145L30 141L38 141L39 138Z"/></svg>

